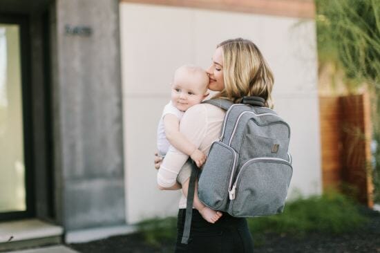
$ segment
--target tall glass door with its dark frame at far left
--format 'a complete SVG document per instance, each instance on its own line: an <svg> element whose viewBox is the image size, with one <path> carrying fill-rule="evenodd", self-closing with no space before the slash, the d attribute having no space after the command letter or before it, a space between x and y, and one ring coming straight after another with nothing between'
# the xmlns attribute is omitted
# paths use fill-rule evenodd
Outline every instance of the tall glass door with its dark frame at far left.
<svg viewBox="0 0 380 253"><path fill-rule="evenodd" d="M31 210L22 31L20 22L0 19L0 220L28 216Z"/></svg>

